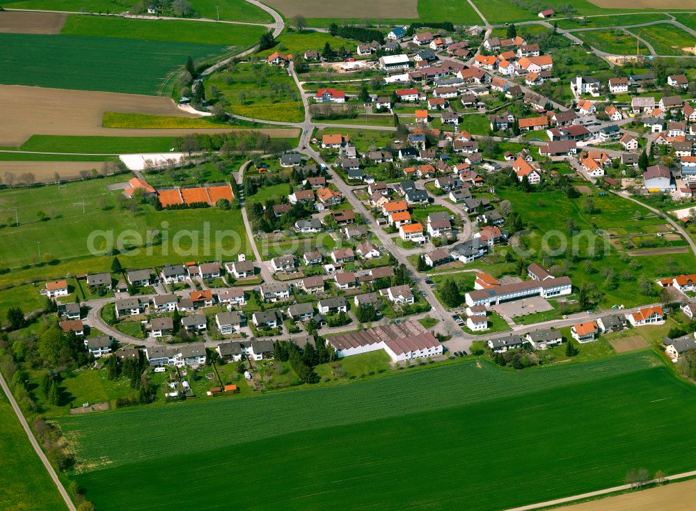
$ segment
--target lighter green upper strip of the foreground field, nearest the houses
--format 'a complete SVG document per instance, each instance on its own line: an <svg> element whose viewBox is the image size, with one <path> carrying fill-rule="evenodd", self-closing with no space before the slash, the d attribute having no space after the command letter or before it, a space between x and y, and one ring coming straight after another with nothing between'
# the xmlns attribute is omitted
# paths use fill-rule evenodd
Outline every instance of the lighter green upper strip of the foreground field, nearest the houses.
<svg viewBox="0 0 696 511"><path fill-rule="evenodd" d="M159 457L172 450L181 454L196 453L212 443L220 447L232 446L317 427L520 396L540 388L601 379L608 373L632 372L637 367L647 367L651 360L646 354L629 355L610 361L525 372L507 372L487 364L477 368L470 361L348 386L70 417L61 419L61 427L74 439L84 464L108 459L110 466L116 466ZM356 414L356 410L360 413ZM171 434L159 434L163 427ZM182 444L180 436L171 428L179 432L196 430L197 433ZM238 431L245 434L235 434Z"/></svg>

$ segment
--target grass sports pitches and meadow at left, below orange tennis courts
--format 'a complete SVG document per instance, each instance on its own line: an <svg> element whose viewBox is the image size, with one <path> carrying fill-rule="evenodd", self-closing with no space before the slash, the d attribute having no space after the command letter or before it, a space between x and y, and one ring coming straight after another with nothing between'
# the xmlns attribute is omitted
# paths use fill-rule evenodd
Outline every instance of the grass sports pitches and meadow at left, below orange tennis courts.
<svg viewBox="0 0 696 511"><path fill-rule="evenodd" d="M152 247L152 255L145 253L144 249L137 255L120 255L124 267L134 269L184 260L212 260L216 250L232 250L235 246L239 252L251 255L239 210L212 207L155 211L150 205L140 205L136 211L124 210L118 202L120 190L108 191L106 185L125 182L129 177L129 174L122 174L68 183L65 188L51 185L1 191L0 268L11 269L3 274L3 283L64 278L67 273L102 272L110 267L112 258L111 255L90 255L87 243L90 233L94 230L113 231L116 239L123 231L133 230L145 239L148 230L162 230L163 222L168 225L168 242ZM85 198L86 214L82 213L81 196ZM20 223L17 227L13 226L15 206ZM46 218L45 221L39 220L39 213ZM203 231L204 222L208 223L212 233L209 239ZM186 230L193 231L191 239L184 238L181 242L182 249L187 252L174 253L173 236ZM234 230L239 242L229 237L216 240L216 230ZM41 242L42 258L53 259L53 262L36 265L40 262L37 242ZM100 251L102 238L95 243L95 248Z"/></svg>

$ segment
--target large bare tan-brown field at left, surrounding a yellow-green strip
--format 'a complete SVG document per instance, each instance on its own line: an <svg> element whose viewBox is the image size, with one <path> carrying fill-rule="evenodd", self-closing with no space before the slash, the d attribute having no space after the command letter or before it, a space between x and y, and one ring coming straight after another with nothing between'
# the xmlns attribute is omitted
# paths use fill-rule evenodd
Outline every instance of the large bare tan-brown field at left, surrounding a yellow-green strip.
<svg viewBox="0 0 696 511"><path fill-rule="evenodd" d="M104 111L198 117L177 108L170 97L67 91L57 88L0 85L0 146L19 147L31 135L182 136L226 133L235 129L120 129L102 127ZM260 129L274 137L297 136L291 128Z"/></svg>

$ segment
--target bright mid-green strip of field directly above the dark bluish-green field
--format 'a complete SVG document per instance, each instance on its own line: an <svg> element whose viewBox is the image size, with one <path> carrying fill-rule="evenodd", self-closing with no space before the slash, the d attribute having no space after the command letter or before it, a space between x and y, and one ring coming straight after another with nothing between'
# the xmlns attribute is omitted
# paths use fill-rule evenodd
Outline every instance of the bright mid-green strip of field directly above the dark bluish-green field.
<svg viewBox="0 0 696 511"><path fill-rule="evenodd" d="M228 23L70 15L65 19L61 34L243 47L260 38L265 31L263 26Z"/></svg>

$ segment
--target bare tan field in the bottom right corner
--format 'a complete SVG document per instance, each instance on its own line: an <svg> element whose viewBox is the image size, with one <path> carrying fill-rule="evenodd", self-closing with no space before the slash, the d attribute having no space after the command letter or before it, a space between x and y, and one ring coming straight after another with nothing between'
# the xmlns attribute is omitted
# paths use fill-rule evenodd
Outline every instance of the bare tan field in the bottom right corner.
<svg viewBox="0 0 696 511"><path fill-rule="evenodd" d="M696 480L672 482L666 486L603 498L560 508L562 511L693 511Z"/></svg>

